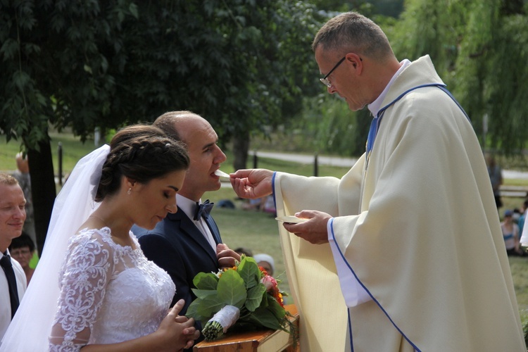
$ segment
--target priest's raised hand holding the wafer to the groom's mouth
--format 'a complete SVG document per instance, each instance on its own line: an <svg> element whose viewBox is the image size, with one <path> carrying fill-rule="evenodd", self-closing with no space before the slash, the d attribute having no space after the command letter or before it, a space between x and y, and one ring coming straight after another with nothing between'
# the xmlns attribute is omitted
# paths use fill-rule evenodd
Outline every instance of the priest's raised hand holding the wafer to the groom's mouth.
<svg viewBox="0 0 528 352"><path fill-rule="evenodd" d="M231 174L231 185L241 198L256 199L271 194L273 171L265 169L237 170Z"/></svg>

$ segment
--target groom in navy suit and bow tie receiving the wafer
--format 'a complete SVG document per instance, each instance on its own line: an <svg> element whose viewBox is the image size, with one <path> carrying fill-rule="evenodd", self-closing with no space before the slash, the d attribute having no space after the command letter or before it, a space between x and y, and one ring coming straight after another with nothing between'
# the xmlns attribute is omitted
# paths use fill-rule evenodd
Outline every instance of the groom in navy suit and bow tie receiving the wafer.
<svg viewBox="0 0 528 352"><path fill-rule="evenodd" d="M166 270L176 285L172 304L183 298L187 312L196 298L191 291L192 280L199 272L217 272L232 267L239 254L222 244L220 231L206 211L196 217L201 196L206 191L220 189L215 171L226 160L218 143L218 135L209 122L190 111L173 111L158 117L153 123L170 137L184 142L191 159L182 189L176 196L178 210L168 214L158 225L146 231L132 227L146 258ZM210 210L210 208L208 209ZM201 326L197 328L201 329Z"/></svg>

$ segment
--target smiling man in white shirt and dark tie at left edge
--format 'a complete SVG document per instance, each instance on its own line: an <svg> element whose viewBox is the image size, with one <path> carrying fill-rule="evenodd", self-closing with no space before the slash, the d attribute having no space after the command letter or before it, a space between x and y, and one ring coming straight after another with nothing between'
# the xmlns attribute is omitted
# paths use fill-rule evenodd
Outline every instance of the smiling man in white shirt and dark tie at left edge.
<svg viewBox="0 0 528 352"><path fill-rule="evenodd" d="M24 193L13 176L0 172L0 340L27 287L24 270L8 250L22 233L24 220Z"/></svg>

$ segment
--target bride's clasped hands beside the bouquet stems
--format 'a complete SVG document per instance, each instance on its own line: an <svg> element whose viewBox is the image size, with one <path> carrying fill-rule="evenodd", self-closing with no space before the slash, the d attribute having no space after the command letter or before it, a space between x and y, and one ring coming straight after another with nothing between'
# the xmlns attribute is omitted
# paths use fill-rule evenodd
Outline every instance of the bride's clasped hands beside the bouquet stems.
<svg viewBox="0 0 528 352"><path fill-rule="evenodd" d="M161 322L158 333L167 339L167 344L171 351L176 348L177 351L183 348L191 348L194 340L200 337L199 330L194 327L194 319L187 318L184 315L178 315L182 310L185 301L180 299L169 310L168 315Z"/></svg>

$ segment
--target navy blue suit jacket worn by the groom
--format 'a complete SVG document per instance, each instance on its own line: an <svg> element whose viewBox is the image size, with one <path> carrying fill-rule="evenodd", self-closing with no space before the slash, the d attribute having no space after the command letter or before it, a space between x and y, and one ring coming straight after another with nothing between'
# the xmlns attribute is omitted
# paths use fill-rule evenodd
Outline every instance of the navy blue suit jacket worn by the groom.
<svg viewBox="0 0 528 352"><path fill-rule="evenodd" d="M215 220L209 216L206 222L215 242L222 243ZM213 251L206 237L183 211L169 213L153 230L147 231L134 225L132 232L138 237L146 258L172 277L176 294L171 306L183 298L185 306L180 315L184 315L189 304L196 298L191 291L194 288L194 276L199 272L218 271L216 251Z"/></svg>

